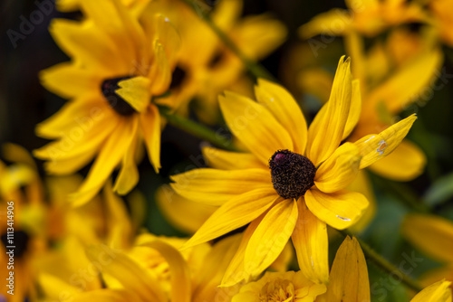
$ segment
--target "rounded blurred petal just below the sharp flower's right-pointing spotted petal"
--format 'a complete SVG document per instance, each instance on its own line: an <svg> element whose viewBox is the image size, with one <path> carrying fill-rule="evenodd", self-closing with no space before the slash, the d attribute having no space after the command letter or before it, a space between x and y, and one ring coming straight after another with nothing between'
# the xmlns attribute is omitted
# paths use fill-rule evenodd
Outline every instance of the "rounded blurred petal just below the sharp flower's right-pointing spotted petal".
<svg viewBox="0 0 453 302"><path fill-rule="evenodd" d="M403 139L393 152L370 165L372 172L392 180L407 182L423 173L426 156L418 146Z"/></svg>

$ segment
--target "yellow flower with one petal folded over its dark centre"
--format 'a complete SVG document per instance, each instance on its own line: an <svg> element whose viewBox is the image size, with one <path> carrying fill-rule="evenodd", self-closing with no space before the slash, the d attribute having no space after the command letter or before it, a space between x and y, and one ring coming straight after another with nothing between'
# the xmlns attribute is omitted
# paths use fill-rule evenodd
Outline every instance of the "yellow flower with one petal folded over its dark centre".
<svg viewBox="0 0 453 302"><path fill-rule="evenodd" d="M150 7L140 19L119 0L82 1L82 8L82 22L51 24L53 38L72 61L43 71L41 80L71 100L36 127L38 136L57 140L34 151L54 175L72 174L96 157L72 195L76 204L98 193L118 165L113 189L130 192L139 180L135 156L142 141L159 171L162 121L159 99L150 99L169 89L179 43L169 19Z"/></svg>

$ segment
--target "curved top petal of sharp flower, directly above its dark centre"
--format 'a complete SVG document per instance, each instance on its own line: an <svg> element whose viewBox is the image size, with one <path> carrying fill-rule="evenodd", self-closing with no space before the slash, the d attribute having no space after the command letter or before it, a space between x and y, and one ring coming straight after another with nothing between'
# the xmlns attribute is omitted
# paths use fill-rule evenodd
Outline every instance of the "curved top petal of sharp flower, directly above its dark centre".
<svg viewBox="0 0 453 302"><path fill-rule="evenodd" d="M293 152L304 154L307 141L307 123L293 96L280 85L268 80L258 80L255 86L258 102L274 115L288 131L294 143Z"/></svg>

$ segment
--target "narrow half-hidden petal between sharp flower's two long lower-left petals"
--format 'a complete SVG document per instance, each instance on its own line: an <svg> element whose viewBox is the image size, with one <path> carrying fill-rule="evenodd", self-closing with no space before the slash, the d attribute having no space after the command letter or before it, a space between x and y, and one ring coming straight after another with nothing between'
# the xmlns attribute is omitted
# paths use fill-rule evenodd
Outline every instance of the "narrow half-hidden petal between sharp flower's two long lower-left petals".
<svg viewBox="0 0 453 302"><path fill-rule="evenodd" d="M250 268L246 267L244 262L246 248L248 241L250 241L250 238L254 234L258 225L263 221L263 218L265 218L265 213L256 218L253 222L250 222L246 228L246 231L244 231L242 240L239 243L235 256L230 261L228 268L226 269L224 278L222 278L222 282L220 283L220 287L231 287L241 281L248 282L250 280L252 274Z"/></svg>

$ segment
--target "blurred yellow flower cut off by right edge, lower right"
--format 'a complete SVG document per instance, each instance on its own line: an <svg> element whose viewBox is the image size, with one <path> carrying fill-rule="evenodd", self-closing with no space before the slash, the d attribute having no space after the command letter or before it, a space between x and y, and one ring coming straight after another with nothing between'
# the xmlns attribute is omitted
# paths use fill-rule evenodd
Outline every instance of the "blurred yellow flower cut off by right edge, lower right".
<svg viewBox="0 0 453 302"><path fill-rule="evenodd" d="M453 222L428 214L410 214L402 226L403 235L419 250L445 265L425 273L421 280L425 286L447 278L453 281Z"/></svg>

